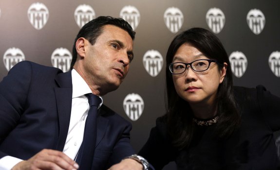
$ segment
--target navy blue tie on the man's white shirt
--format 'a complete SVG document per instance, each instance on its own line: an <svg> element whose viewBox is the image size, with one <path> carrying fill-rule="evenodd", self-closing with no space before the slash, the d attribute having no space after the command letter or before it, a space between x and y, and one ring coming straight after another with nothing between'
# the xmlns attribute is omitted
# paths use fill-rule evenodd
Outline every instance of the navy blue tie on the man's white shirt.
<svg viewBox="0 0 280 170"><path fill-rule="evenodd" d="M79 170L92 169L93 154L96 143L97 107L101 102L101 99L92 93L88 93L86 96L89 99L90 110L86 119L83 142L76 159L76 162L79 164Z"/></svg>

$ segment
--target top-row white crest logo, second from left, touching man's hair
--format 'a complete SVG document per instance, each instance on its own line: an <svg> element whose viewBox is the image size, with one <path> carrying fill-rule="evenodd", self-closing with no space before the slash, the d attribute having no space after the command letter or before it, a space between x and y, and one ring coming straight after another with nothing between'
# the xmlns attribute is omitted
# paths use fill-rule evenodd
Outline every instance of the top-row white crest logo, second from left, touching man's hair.
<svg viewBox="0 0 280 170"><path fill-rule="evenodd" d="M95 12L90 5L82 4L75 9L74 17L77 25L82 28L95 18Z"/></svg>

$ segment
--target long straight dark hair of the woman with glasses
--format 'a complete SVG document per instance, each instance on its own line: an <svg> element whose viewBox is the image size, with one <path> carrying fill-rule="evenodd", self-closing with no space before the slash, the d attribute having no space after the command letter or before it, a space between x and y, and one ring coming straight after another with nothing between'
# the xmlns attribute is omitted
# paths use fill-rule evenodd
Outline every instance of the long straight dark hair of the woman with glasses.
<svg viewBox="0 0 280 170"><path fill-rule="evenodd" d="M203 28L191 28L175 36L172 40L166 56L166 87L167 87L167 118L168 133L172 138L173 145L179 149L188 147L195 124L192 122L193 114L189 104L176 93L172 74L168 65L172 63L173 57L178 48L188 43L206 57L218 60L219 63L227 63L226 74L223 83L218 87L217 92L217 114L219 120L216 125L216 133L219 137L230 136L240 125L240 115L233 96L232 72L227 53L216 35ZM218 65L221 70L224 66Z"/></svg>

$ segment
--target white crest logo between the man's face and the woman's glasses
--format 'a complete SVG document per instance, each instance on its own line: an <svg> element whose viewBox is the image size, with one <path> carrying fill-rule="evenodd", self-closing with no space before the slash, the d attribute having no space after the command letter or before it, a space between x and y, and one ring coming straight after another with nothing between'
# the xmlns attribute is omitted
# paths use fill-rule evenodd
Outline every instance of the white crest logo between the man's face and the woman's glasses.
<svg viewBox="0 0 280 170"><path fill-rule="evenodd" d="M149 75L155 77L163 67L163 57L159 51L149 50L144 54L143 64Z"/></svg>

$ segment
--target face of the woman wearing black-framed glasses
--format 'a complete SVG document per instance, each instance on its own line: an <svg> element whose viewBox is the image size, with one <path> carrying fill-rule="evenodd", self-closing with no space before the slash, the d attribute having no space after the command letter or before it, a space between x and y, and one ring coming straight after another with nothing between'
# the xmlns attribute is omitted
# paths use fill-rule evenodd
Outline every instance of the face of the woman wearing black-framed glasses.
<svg viewBox="0 0 280 170"><path fill-rule="evenodd" d="M199 59L209 59L195 47L185 43L176 51L172 63L191 63ZM227 64L222 70L212 62L209 68L202 72L194 71L187 66L185 72L173 74L173 82L178 95L189 104L213 104L219 85L223 82Z"/></svg>

